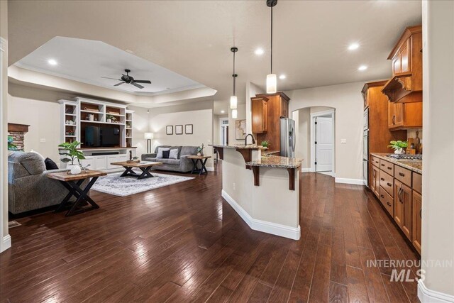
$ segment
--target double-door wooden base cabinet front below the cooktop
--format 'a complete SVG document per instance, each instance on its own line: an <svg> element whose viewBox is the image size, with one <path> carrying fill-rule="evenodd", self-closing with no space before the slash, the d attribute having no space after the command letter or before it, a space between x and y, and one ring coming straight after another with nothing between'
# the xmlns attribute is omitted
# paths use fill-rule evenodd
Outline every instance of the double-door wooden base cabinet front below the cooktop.
<svg viewBox="0 0 454 303"><path fill-rule="evenodd" d="M412 241L413 230L413 199L411 188L394 180L394 221L402 229L405 236Z"/></svg>

